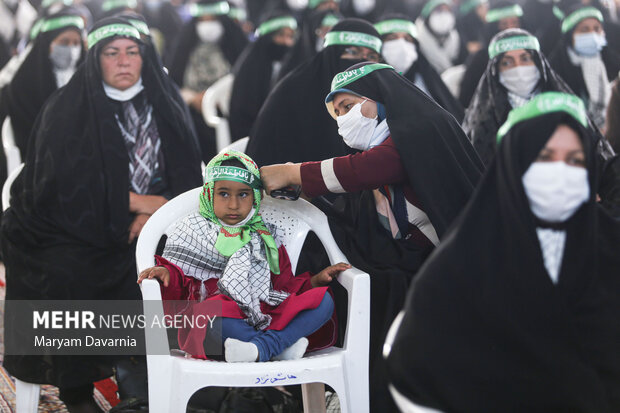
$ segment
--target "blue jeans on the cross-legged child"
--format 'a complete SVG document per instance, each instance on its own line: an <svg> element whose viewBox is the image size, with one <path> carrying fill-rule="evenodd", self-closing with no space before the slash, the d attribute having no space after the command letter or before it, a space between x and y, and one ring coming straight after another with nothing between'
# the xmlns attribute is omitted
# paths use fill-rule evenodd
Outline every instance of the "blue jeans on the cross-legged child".
<svg viewBox="0 0 620 413"><path fill-rule="evenodd" d="M239 318L222 318L222 342L227 338L254 343L258 347L258 360L269 361L302 337L321 328L334 312L334 300L325 293L317 308L301 311L282 330L255 330Z"/></svg>

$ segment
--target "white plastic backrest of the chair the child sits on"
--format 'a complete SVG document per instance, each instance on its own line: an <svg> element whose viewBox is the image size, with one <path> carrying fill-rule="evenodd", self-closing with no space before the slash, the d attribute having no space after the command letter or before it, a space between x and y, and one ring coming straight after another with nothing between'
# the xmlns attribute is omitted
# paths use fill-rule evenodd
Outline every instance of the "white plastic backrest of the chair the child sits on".
<svg viewBox="0 0 620 413"><path fill-rule="evenodd" d="M198 211L201 187L191 189L168 201L149 218L136 247L138 271L154 265L154 254L161 236L174 228L176 222ZM332 263L347 262L331 235L325 215L309 202L284 201L265 197L261 203L263 220L277 227L278 235L287 249L293 271L308 231L313 231L323 243Z"/></svg>

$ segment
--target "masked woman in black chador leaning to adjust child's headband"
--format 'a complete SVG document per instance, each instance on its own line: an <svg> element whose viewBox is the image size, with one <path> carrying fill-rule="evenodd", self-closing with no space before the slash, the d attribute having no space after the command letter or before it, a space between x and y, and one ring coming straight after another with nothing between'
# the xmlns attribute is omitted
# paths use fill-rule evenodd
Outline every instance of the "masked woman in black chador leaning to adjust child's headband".
<svg viewBox="0 0 620 413"><path fill-rule="evenodd" d="M268 192L297 184L310 197L341 194L324 209L340 249L370 274L371 410L393 411L381 359L387 329L482 163L454 117L391 66L366 62L337 74L325 102L344 142L362 152L265 166L261 176Z"/></svg>

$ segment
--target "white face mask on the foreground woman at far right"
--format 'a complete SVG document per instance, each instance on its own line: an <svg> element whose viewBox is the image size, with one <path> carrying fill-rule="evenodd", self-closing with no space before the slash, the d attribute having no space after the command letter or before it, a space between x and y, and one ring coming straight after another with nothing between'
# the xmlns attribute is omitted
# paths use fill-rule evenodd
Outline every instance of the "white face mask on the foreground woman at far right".
<svg viewBox="0 0 620 413"><path fill-rule="evenodd" d="M590 197L588 171L563 161L534 162L523 174L532 213L546 222L564 222Z"/></svg>

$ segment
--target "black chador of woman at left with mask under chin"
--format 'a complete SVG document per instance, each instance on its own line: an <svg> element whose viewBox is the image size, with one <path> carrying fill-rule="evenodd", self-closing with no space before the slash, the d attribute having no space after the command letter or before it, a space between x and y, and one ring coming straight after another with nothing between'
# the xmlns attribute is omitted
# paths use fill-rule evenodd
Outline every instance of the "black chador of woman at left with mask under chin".
<svg viewBox="0 0 620 413"><path fill-rule="evenodd" d="M93 30L129 23L101 20ZM56 91L33 127L26 165L11 188L2 220L9 300L139 299L135 242L128 243L129 156L104 90L96 43L71 81ZM142 55L142 82L161 139L171 195L200 184L200 161L189 120L171 81ZM19 334L14 314L5 328ZM32 383L77 387L111 374L102 358L6 356L4 366Z"/></svg>

